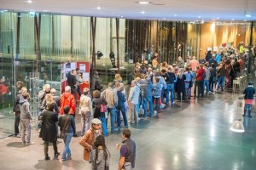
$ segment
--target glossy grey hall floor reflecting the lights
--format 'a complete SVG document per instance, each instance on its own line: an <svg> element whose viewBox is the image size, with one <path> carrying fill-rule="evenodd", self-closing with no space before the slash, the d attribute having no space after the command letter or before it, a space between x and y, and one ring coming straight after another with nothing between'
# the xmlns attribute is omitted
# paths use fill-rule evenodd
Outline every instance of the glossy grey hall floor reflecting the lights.
<svg viewBox="0 0 256 170"><path fill-rule="evenodd" d="M176 103L154 118L142 118L133 124L131 136L137 143L137 170L255 170L256 169L256 115L244 117L245 133L230 131L231 124L241 116L237 108L240 95L230 93L208 94L203 99ZM77 117L78 130L79 117ZM83 161L79 138L71 144L73 160L44 161L44 145L38 133L32 132L34 145L23 147L20 139L0 140L0 169L90 169ZM115 144L121 135L107 138L111 153L110 169L117 169L119 150ZM63 141L58 142L63 150ZM49 156L53 150L49 148Z"/></svg>

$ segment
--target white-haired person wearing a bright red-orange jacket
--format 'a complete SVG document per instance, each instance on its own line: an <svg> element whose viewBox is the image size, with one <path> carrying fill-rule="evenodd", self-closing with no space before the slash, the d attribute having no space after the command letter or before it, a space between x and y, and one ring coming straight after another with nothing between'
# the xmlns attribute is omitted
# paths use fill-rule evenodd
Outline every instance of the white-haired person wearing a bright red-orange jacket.
<svg viewBox="0 0 256 170"><path fill-rule="evenodd" d="M60 114L61 115L63 115L63 113L64 113L63 108L66 105L70 108L70 111L68 112L68 114L73 116L73 118L75 118L76 100L75 100L73 94L71 94L70 86L67 86L65 88L65 92L63 94L61 94L61 106L60 106ZM74 127L76 127L76 126L74 126ZM77 137L77 136L78 135L76 133L76 128L75 128L75 131L73 132L73 137Z"/></svg>

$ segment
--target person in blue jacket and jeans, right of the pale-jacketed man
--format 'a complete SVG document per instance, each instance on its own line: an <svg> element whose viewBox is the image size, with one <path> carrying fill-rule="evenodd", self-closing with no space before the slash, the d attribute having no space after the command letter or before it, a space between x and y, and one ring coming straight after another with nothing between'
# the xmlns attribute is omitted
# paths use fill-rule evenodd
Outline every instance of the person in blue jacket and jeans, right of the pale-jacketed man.
<svg viewBox="0 0 256 170"><path fill-rule="evenodd" d="M142 97L143 97L144 117L147 117L147 104L149 104L150 116L154 116L153 101L152 101L153 84L147 78L145 78L142 81L141 88L142 88Z"/></svg>

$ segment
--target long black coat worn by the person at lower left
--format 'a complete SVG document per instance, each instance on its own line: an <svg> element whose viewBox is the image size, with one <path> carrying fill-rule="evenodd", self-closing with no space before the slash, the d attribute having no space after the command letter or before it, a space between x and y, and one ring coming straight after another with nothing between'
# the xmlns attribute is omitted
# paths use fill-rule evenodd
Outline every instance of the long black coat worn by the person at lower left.
<svg viewBox="0 0 256 170"><path fill-rule="evenodd" d="M57 129L55 124L55 122L58 121L57 114L53 111L44 110L40 119L43 122L39 137L48 142L57 141Z"/></svg>

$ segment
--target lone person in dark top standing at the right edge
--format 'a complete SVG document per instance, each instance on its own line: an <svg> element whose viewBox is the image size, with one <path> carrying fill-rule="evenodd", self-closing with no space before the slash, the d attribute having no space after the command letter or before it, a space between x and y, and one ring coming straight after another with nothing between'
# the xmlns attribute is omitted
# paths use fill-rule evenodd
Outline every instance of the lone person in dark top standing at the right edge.
<svg viewBox="0 0 256 170"><path fill-rule="evenodd" d="M253 105L253 94L255 94L253 82L248 83L248 86L247 88L244 89L243 94L244 94L245 105L244 105L244 113L242 116L246 116L246 113L248 110L248 116L252 117L251 111L252 111L252 105Z"/></svg>

